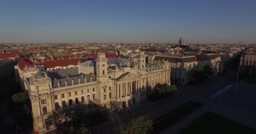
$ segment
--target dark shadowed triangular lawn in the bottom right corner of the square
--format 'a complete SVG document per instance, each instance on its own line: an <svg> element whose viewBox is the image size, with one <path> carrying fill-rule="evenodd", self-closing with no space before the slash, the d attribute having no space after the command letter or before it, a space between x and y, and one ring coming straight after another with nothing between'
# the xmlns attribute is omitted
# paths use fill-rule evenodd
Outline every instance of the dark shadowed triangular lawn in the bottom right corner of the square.
<svg viewBox="0 0 256 134"><path fill-rule="evenodd" d="M180 134L256 134L256 130L215 113L206 112Z"/></svg>

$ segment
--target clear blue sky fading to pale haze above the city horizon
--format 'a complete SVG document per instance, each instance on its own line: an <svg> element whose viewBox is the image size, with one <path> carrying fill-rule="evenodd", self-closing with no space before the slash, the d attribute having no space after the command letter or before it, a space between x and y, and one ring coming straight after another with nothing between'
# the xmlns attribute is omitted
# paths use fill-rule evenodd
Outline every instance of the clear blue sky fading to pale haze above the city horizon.
<svg viewBox="0 0 256 134"><path fill-rule="evenodd" d="M256 43L256 0L0 0L1 43Z"/></svg>

